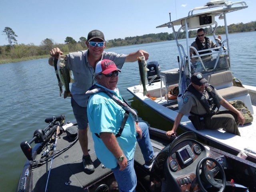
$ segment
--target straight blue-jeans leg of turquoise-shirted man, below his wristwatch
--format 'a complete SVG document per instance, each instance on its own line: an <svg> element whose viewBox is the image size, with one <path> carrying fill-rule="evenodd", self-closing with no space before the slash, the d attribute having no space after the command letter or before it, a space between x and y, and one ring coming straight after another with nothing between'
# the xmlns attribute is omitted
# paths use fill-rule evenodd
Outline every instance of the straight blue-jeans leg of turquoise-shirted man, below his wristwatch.
<svg viewBox="0 0 256 192"><path fill-rule="evenodd" d="M137 177L134 170L134 158L128 161L125 170L120 171L120 166L112 169L118 183L119 192L135 192Z"/></svg>

